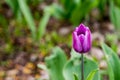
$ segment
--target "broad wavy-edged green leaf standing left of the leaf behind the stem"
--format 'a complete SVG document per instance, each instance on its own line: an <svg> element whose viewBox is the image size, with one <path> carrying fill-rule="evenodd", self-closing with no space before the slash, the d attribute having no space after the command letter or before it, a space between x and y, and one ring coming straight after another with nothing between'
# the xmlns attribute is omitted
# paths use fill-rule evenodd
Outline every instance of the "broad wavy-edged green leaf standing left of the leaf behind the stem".
<svg viewBox="0 0 120 80"><path fill-rule="evenodd" d="M52 55L45 58L50 80L64 80L62 71L66 61L66 55L59 47L54 48Z"/></svg>

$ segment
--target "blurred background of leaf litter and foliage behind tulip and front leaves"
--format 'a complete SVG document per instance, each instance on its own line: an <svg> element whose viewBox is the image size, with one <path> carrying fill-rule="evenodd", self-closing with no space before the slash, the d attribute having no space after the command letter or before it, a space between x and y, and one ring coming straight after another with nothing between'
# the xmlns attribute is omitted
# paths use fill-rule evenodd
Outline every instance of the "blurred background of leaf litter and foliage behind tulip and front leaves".
<svg viewBox="0 0 120 80"><path fill-rule="evenodd" d="M0 0L0 80L46 78L47 73L37 64L44 64L55 46L68 59L72 31L80 23L92 31L88 56L100 68L106 66L102 42L120 56L120 0Z"/></svg>

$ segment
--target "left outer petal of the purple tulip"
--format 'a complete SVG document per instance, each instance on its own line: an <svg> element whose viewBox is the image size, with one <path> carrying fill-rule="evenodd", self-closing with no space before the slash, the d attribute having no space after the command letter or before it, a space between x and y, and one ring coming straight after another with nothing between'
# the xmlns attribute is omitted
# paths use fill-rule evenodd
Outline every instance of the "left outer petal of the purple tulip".
<svg viewBox="0 0 120 80"><path fill-rule="evenodd" d="M73 48L77 52L81 52L82 51L82 46L81 46L81 43L79 41L79 37L77 36L77 32L76 31L73 32Z"/></svg>

